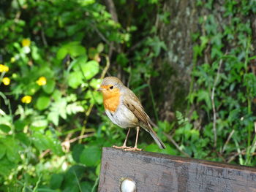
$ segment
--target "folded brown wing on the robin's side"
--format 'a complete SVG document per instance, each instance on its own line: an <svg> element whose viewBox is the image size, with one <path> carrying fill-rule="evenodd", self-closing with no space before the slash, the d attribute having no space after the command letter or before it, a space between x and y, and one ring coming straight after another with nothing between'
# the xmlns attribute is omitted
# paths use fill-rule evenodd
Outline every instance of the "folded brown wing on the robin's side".
<svg viewBox="0 0 256 192"><path fill-rule="evenodd" d="M145 126L148 126L149 123L149 117L144 111L142 105L140 104L140 100L137 96L135 96L135 93L133 93L130 90L127 90L128 94L125 94L124 96L124 105L131 111L133 114L145 124Z"/></svg>

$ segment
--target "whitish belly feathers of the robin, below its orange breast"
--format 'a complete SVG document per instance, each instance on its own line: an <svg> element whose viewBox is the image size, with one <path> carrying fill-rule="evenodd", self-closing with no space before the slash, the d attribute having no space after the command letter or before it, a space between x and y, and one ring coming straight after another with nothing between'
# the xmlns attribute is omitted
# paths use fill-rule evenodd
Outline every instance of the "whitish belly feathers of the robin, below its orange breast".
<svg viewBox="0 0 256 192"><path fill-rule="evenodd" d="M105 110L105 112L108 115L108 118L121 128L135 127L139 125L138 118L136 118L124 104L120 104L116 112L110 112L109 110Z"/></svg>

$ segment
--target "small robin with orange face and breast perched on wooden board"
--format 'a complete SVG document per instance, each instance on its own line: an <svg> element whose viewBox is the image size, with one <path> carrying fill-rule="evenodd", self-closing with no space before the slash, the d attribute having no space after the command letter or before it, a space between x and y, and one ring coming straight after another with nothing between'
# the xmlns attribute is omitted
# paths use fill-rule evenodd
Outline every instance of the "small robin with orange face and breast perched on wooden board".
<svg viewBox="0 0 256 192"><path fill-rule="evenodd" d="M108 118L121 128L128 128L127 137L124 140L124 145L121 147L113 146L124 150L141 150L137 147L138 134L140 127L148 131L153 137L154 141L161 149L165 149L164 143L157 137L156 132L151 125L154 123L150 120L148 115L140 104L140 100L135 93L124 84L117 77L105 77L102 80L98 91L102 92L103 104ZM130 128L136 128L136 140L134 147L127 147L127 138Z"/></svg>

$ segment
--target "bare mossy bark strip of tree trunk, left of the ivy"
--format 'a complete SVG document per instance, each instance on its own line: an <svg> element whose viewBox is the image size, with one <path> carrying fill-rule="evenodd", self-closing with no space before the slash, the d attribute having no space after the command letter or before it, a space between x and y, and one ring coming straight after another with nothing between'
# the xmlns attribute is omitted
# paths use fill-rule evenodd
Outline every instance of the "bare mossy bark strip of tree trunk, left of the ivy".
<svg viewBox="0 0 256 192"><path fill-rule="evenodd" d="M192 72L192 34L199 31L198 11L194 1L165 1L164 12L170 13L169 23L159 23L158 30L167 45L167 51L159 59L157 71L160 78L154 80L159 114L162 120L173 119L173 112L186 108Z"/></svg>

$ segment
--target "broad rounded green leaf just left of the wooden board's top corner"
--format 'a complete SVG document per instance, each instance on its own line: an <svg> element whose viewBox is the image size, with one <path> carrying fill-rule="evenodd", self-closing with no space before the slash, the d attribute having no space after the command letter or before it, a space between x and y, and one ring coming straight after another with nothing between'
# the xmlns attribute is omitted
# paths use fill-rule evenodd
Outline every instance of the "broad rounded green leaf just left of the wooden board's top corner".
<svg viewBox="0 0 256 192"><path fill-rule="evenodd" d="M97 166L100 161L101 150L99 147L86 147L80 155L80 163L86 166Z"/></svg>

